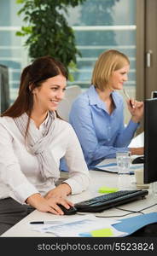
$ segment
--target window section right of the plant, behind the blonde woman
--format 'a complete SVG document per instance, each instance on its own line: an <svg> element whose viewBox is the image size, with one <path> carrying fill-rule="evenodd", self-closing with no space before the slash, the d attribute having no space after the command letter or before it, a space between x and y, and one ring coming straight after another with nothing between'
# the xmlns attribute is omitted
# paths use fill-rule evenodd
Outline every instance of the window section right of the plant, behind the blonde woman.
<svg viewBox="0 0 157 256"><path fill-rule="evenodd" d="M73 26L82 54L77 58L78 70L73 72L74 81L69 84L88 88L98 55L107 49L118 49L131 61L125 88L131 97L136 97L136 6L136 0L87 0L69 11L67 19ZM130 113L125 105L125 122L129 119Z"/></svg>

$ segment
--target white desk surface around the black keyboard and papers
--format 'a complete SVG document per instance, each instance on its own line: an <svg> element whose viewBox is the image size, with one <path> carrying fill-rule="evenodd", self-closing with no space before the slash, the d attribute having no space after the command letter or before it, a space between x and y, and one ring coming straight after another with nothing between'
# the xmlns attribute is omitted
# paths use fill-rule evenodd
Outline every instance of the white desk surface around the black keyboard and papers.
<svg viewBox="0 0 157 256"><path fill-rule="evenodd" d="M97 172L97 171L90 171L90 176L91 176L91 183L90 183L90 188L86 191L84 191L82 194L79 195L70 195L69 200L73 201L73 203L78 202L78 201L83 201L86 199L90 199L91 197L94 197L96 195L102 195L99 194L97 191L102 185L108 185L111 187L116 187L117 181L118 181L118 175L116 173L108 173L108 172ZM127 209L127 210L135 210L139 211L142 208L149 207L154 205L156 203L156 198L153 197L151 193L151 189L148 189L149 193L147 195L147 198L144 200L138 200L138 201L133 201L130 203L127 203L123 206L119 206L122 209ZM148 212L157 212L157 206L148 208L147 210L143 211L144 213ZM101 215L101 216L109 216L112 218L112 216L121 216L125 215L124 211L111 208L108 210L105 210L104 212L99 212L95 213L96 215ZM90 213L93 214L93 213ZM136 213L138 215L138 213ZM136 216L136 214L130 214L126 217L119 217L119 218L127 218L131 216ZM29 237L41 237L41 236L53 236L52 234L49 233L39 233L37 231L32 231L30 227L30 222L31 221L39 221L39 220L54 220L58 218L69 218L69 216L56 216L53 215L49 212L38 212L35 210L31 214L29 214L26 218L23 218L18 224L15 224L11 229L3 233L3 237L13 237L13 236L29 236Z"/></svg>

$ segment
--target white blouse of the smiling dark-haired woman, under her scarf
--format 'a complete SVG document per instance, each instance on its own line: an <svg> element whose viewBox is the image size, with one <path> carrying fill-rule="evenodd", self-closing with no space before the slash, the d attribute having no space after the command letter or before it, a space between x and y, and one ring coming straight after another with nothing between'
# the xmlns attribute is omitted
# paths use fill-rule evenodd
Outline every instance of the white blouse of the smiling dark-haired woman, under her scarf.
<svg viewBox="0 0 157 256"><path fill-rule="evenodd" d="M58 168L61 158L65 156L69 169L69 178L65 182L70 185L72 194L78 194L89 186L89 171L73 127L61 119L56 121L59 123L59 129L50 148ZM31 122L35 126L32 119ZM35 126L41 137L46 122L47 119L39 129ZM48 178L44 181L38 168L37 157L26 150L25 139L21 136L14 119L1 117L0 199L10 196L24 204L30 195L40 193L44 196L50 189L55 188L52 180Z"/></svg>

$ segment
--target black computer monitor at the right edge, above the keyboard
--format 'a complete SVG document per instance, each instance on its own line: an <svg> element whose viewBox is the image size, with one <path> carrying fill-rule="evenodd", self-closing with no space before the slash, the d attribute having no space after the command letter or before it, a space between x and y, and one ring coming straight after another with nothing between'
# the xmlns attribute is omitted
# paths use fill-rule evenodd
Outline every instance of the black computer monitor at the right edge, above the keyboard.
<svg viewBox="0 0 157 256"><path fill-rule="evenodd" d="M157 181L157 98L144 101L144 183Z"/></svg>

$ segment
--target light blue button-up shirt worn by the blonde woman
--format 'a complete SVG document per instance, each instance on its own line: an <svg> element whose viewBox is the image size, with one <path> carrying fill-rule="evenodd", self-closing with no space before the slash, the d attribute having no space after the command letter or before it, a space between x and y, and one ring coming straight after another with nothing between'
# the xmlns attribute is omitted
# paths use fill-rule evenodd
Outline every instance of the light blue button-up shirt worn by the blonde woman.
<svg viewBox="0 0 157 256"><path fill-rule="evenodd" d="M69 122L78 136L87 165L95 166L117 151L125 151L137 130L132 120L124 125L124 102L118 92L112 93L115 108L108 113L93 85L73 102Z"/></svg>

